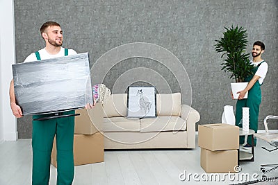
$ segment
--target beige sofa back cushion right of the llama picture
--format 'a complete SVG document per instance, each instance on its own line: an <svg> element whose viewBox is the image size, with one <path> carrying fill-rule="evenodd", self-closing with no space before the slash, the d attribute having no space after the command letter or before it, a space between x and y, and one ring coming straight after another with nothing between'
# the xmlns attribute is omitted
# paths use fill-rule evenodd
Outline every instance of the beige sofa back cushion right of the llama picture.
<svg viewBox="0 0 278 185"><path fill-rule="evenodd" d="M157 116L180 116L181 93L156 94Z"/></svg>

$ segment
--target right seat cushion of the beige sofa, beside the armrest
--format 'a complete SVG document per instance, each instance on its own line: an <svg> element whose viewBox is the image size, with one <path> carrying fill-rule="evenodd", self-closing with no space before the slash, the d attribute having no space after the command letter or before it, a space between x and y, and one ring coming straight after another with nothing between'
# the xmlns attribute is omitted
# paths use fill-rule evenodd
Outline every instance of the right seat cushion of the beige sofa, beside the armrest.
<svg viewBox="0 0 278 185"><path fill-rule="evenodd" d="M158 116L157 118L142 118L140 132L161 132L186 130L186 121L179 116Z"/></svg>

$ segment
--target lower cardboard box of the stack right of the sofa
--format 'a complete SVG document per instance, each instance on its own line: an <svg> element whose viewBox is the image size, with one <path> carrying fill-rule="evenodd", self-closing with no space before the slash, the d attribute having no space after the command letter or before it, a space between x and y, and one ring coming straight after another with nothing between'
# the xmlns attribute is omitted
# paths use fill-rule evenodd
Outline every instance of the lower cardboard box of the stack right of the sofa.
<svg viewBox="0 0 278 185"><path fill-rule="evenodd" d="M238 150L211 151L201 148L201 166L206 173L238 173Z"/></svg>

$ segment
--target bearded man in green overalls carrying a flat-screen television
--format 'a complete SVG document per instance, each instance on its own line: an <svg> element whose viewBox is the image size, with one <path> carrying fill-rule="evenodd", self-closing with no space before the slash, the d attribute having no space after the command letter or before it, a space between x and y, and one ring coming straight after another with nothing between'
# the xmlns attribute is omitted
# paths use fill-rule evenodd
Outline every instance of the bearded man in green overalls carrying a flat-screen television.
<svg viewBox="0 0 278 185"><path fill-rule="evenodd" d="M28 55L24 62L36 60L46 60L58 58L66 55L75 55L76 51L65 49L63 44L63 30L60 24L54 21L47 21L42 24L40 33L45 41L44 49ZM95 106L87 103L86 109ZM10 82L10 107L17 118L23 116L22 109L17 105L15 98L14 81ZM62 114L74 114L74 111L63 112ZM74 179L74 117L67 116L61 118L51 118L38 121L38 118L52 116L52 114L34 115L32 148L33 148L33 168L32 184L49 184L51 151L56 136L57 143L57 184L72 184Z"/></svg>

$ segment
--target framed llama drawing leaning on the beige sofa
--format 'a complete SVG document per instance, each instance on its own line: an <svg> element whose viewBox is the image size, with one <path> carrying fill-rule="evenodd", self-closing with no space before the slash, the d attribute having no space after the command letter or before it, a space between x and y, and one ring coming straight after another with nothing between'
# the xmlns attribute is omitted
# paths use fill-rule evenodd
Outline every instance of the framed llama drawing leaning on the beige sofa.
<svg viewBox="0 0 278 185"><path fill-rule="evenodd" d="M127 93L127 117L156 117L155 87L129 87Z"/></svg>

